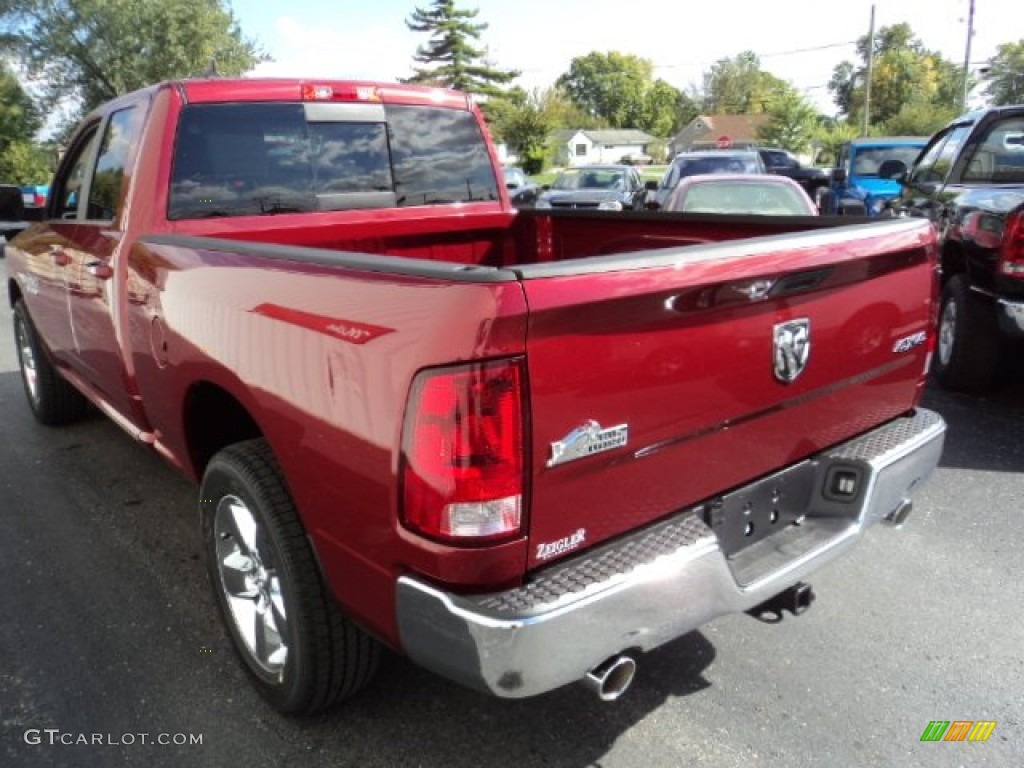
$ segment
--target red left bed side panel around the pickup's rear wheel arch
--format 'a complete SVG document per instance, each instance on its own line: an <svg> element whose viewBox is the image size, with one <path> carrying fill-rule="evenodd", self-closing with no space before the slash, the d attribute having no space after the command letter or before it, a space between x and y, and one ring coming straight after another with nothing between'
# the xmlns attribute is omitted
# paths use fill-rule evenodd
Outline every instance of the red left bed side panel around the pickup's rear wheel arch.
<svg viewBox="0 0 1024 768"><path fill-rule="evenodd" d="M398 446L414 375L521 354L525 304L515 280L431 280L137 244L128 334L160 447L191 464L184 403L196 386L230 393L285 472L325 572L349 611L394 638L403 568L459 584L521 577L524 542L457 550L397 519Z"/></svg>

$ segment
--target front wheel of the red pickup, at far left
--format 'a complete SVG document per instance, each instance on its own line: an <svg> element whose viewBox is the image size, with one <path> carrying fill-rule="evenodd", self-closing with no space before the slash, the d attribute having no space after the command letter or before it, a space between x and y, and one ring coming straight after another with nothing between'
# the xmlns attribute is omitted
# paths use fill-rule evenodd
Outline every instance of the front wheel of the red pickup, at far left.
<svg viewBox="0 0 1024 768"><path fill-rule="evenodd" d="M14 303L14 345L25 396L36 421L55 427L82 419L88 413L89 402L57 372L36 333L24 299Z"/></svg>

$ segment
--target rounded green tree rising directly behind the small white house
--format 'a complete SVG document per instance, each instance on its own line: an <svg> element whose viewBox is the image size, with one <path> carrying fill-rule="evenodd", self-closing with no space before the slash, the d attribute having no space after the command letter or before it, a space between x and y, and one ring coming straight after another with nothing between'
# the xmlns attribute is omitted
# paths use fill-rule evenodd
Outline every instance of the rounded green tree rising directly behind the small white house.
<svg viewBox="0 0 1024 768"><path fill-rule="evenodd" d="M653 73L648 59L632 53L593 51L573 58L556 84L581 110L610 128L667 136L680 125L687 99L666 81L655 80Z"/></svg>

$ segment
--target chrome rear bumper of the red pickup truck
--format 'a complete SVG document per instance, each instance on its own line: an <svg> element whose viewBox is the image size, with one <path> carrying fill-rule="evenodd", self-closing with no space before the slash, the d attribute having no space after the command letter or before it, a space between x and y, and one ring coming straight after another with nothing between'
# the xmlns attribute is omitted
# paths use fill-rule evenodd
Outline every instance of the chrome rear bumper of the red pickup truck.
<svg viewBox="0 0 1024 768"><path fill-rule="evenodd" d="M402 577L397 617L418 664L501 697L582 679L609 656L646 651L726 613L748 610L849 550L893 516L938 465L942 418L919 410L810 461L806 517L726 557L702 507L531 575L517 589L455 595ZM855 492L837 477L854 478Z"/></svg>

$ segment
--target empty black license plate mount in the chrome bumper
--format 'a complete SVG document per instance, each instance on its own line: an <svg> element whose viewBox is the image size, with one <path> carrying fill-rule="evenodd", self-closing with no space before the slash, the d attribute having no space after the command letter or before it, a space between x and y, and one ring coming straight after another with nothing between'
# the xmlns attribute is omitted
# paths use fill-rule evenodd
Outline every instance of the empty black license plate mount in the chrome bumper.
<svg viewBox="0 0 1024 768"><path fill-rule="evenodd" d="M726 557L802 519L816 477L816 464L806 461L708 502L705 522Z"/></svg>

